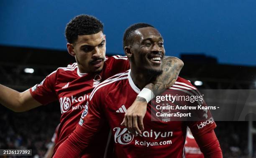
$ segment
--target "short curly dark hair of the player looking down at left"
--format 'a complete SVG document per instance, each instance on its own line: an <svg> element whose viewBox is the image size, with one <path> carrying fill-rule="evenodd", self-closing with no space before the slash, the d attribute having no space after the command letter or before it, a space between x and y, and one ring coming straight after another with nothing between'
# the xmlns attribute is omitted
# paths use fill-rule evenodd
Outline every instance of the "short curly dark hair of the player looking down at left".
<svg viewBox="0 0 256 158"><path fill-rule="evenodd" d="M103 24L96 17L91 15L78 15L67 24L65 37L67 42L76 42L78 35L93 35L103 32Z"/></svg>

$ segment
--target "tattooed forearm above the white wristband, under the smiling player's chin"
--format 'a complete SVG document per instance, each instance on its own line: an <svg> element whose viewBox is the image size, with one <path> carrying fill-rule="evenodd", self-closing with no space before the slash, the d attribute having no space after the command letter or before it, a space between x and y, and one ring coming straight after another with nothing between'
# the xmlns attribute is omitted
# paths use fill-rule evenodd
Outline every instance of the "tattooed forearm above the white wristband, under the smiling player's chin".
<svg viewBox="0 0 256 158"><path fill-rule="evenodd" d="M151 91L168 89L177 80L183 65L182 60L177 57L165 57L162 63L163 73L152 79L151 83L147 84L145 88Z"/></svg>

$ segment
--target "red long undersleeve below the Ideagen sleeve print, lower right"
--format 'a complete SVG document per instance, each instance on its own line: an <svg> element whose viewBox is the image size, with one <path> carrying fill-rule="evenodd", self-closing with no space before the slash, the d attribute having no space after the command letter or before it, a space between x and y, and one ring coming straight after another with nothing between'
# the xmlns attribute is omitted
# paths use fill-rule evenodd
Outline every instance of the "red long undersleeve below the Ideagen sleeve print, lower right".
<svg viewBox="0 0 256 158"><path fill-rule="evenodd" d="M220 143L213 130L202 135L193 133L193 136L205 158L222 158Z"/></svg>

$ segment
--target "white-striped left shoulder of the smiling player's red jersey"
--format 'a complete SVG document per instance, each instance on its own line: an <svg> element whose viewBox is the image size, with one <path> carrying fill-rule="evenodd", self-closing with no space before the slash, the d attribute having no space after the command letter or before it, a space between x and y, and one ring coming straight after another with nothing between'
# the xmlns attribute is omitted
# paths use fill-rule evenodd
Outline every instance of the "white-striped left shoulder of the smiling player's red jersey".
<svg viewBox="0 0 256 158"><path fill-rule="evenodd" d="M101 91L109 91L110 89L114 89L120 84L123 83L123 81L128 79L128 71L115 74L114 76L106 79L102 83L98 84L95 89L92 90L92 93L90 94L89 99L91 100L95 94L97 95Z"/></svg>

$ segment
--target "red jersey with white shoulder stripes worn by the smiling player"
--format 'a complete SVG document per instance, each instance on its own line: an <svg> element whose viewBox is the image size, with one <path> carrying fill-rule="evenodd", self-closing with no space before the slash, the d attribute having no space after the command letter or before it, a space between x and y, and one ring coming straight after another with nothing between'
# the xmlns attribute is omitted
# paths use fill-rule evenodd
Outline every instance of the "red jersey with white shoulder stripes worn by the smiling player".
<svg viewBox="0 0 256 158"><path fill-rule="evenodd" d="M173 93L188 89L197 91L189 81L181 77L178 77L171 88L175 89L172 91ZM106 122L109 123L113 133L115 153L118 158L182 158L184 157L184 143L188 126L197 136L216 127L213 119L208 123L202 121L151 121L151 112L154 109L151 102L147 106L143 119L145 130L142 135L134 136L128 132L127 128L120 126L120 123L126 109L132 105L139 92L140 89L131 79L130 70L99 84L90 95L89 110L85 111L80 119L80 126L77 126L67 140L75 142L78 148L74 152L72 150L70 155L76 156L77 151L86 148L92 141L92 136L100 131ZM170 91L166 91L166 93L170 94ZM210 111L207 111L207 115L210 116ZM200 123L203 123L203 126L200 126ZM65 147L67 148L67 146L63 146L60 151L65 151Z"/></svg>

